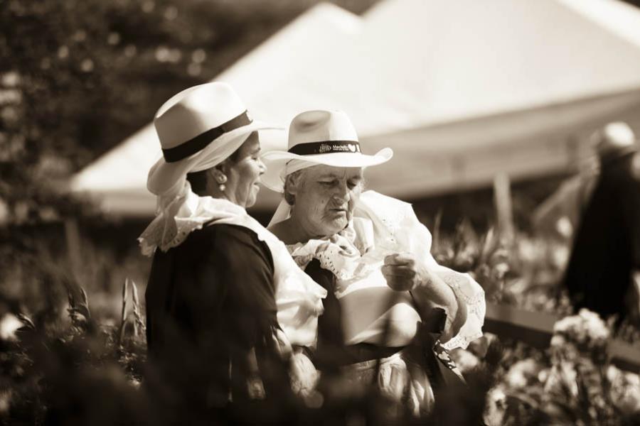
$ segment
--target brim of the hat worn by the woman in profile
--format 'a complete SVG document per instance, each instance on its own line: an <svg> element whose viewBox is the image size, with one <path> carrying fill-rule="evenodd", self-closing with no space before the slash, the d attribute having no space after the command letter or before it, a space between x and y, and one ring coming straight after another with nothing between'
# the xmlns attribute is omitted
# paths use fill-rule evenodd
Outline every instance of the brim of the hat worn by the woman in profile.
<svg viewBox="0 0 640 426"><path fill-rule="evenodd" d="M216 143L233 143L234 141L238 141L238 139L242 139L242 143L249 137L249 135L255 131L263 131L263 130L284 130L284 128L280 126L274 126L272 124L267 124L262 121L252 121L247 126L238 127L238 129L233 129L228 133L224 133L222 136L215 138L213 141ZM212 142L213 142L212 141ZM238 147L242 146L242 143L238 144ZM206 149L206 148L204 148ZM202 151L204 151L204 149ZM182 160L167 163L164 160L164 157L161 157L149 170L149 177L146 180L146 188L149 192L152 192L156 195L162 194L169 190L172 186L178 182L178 180L183 176L189 173L189 166L191 165L191 159L193 157L200 155L202 151L198 151L197 153L183 158Z"/></svg>

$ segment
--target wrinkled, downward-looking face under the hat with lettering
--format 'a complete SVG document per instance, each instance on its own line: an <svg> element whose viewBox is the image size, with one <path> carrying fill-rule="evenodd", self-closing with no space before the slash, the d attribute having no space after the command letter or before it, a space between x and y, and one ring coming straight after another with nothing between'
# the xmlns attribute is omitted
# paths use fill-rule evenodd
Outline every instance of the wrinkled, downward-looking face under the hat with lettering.
<svg viewBox="0 0 640 426"><path fill-rule="evenodd" d="M292 217L309 238L330 236L344 229L362 191L362 168L314 165L290 188L295 196Z"/></svg>

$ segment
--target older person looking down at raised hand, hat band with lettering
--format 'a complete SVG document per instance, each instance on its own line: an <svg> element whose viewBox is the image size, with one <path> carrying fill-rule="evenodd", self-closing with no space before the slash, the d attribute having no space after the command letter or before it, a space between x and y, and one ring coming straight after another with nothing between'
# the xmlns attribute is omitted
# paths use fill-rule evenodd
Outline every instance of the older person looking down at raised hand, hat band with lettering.
<svg viewBox="0 0 640 426"><path fill-rule="evenodd" d="M421 415L433 388L462 381L446 349L481 336L484 292L434 261L430 232L410 204L362 192L363 168L392 155L363 154L346 114L306 111L292 121L288 151L263 155L263 182L284 192L270 230L329 291L316 366L354 384L377 382Z"/></svg>

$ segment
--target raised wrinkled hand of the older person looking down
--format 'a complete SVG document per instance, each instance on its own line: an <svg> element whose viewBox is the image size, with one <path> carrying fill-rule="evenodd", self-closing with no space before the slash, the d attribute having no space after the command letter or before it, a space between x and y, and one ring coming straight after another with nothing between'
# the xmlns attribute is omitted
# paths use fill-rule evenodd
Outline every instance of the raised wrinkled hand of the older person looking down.
<svg viewBox="0 0 640 426"><path fill-rule="evenodd" d="M413 290L420 283L425 283L430 276L424 263L410 253L385 256L382 273L387 285L396 291Z"/></svg>

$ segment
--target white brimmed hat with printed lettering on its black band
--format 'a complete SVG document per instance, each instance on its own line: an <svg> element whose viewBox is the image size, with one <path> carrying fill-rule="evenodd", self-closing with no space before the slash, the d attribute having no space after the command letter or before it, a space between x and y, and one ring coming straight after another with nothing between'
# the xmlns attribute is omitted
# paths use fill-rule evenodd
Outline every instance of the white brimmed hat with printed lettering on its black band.
<svg viewBox="0 0 640 426"><path fill-rule="evenodd" d="M311 165L369 167L393 157L391 148L383 148L373 155L363 153L358 133L343 111L314 110L298 114L289 126L287 145L287 151L262 154L267 166L262 183L277 192L284 192L284 178L289 173Z"/></svg>

